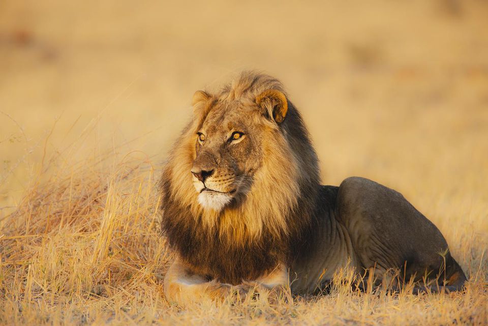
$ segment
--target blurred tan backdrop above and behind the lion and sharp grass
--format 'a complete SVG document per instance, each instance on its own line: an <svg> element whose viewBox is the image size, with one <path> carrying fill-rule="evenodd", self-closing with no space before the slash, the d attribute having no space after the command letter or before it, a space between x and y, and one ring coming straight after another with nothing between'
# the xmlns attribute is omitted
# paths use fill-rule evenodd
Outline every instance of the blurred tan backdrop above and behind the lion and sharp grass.
<svg viewBox="0 0 488 326"><path fill-rule="evenodd" d="M486 0L3 0L0 217L73 144L163 162L193 93L242 69L283 81L323 183L488 202Z"/></svg>

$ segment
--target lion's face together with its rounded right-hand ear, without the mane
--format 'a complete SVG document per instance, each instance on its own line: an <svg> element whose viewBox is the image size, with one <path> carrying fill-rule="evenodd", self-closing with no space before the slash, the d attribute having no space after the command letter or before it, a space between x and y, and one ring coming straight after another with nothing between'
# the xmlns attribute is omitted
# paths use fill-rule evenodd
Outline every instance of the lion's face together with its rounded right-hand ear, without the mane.
<svg viewBox="0 0 488 326"><path fill-rule="evenodd" d="M196 97L205 100L207 95L197 92ZM277 132L286 110L286 98L276 90L254 102L214 102L207 107L195 134L196 157L189 171L204 209L220 212L245 198L263 160L263 142Z"/></svg>

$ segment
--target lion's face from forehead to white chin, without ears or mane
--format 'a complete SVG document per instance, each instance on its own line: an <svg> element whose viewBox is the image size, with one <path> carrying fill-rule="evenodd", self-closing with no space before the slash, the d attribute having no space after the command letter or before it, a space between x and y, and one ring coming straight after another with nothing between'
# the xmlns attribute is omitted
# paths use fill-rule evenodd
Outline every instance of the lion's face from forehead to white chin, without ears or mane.
<svg viewBox="0 0 488 326"><path fill-rule="evenodd" d="M203 208L214 211L246 195L262 161L260 117L233 104L212 108L195 135L193 185Z"/></svg>

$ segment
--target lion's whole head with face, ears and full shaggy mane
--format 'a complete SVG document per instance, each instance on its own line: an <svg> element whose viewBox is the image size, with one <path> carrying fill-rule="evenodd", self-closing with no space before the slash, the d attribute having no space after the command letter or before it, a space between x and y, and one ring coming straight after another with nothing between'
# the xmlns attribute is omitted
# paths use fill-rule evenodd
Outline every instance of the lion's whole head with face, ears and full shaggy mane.
<svg viewBox="0 0 488 326"><path fill-rule="evenodd" d="M195 268L237 283L288 259L310 226L317 156L273 77L243 72L193 106L162 175L162 227Z"/></svg>

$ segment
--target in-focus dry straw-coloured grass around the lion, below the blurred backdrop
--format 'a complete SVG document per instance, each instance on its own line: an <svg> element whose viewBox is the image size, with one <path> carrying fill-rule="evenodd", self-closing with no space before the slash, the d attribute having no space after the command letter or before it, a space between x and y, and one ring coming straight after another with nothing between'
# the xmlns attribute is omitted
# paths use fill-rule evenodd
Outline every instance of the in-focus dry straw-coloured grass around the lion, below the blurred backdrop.
<svg viewBox="0 0 488 326"><path fill-rule="evenodd" d="M78 164L50 160L55 171L63 172L34 183L5 218L0 323L486 323L488 244L482 215L475 216L476 230L465 225L463 216L447 228L454 255L469 277L463 292L362 293L352 290L345 270L338 272L330 294L297 297L293 303L248 299L185 310L171 306L162 289L171 253L158 235L155 211L159 167L140 156L97 154ZM457 233L459 238L452 239Z"/></svg>

